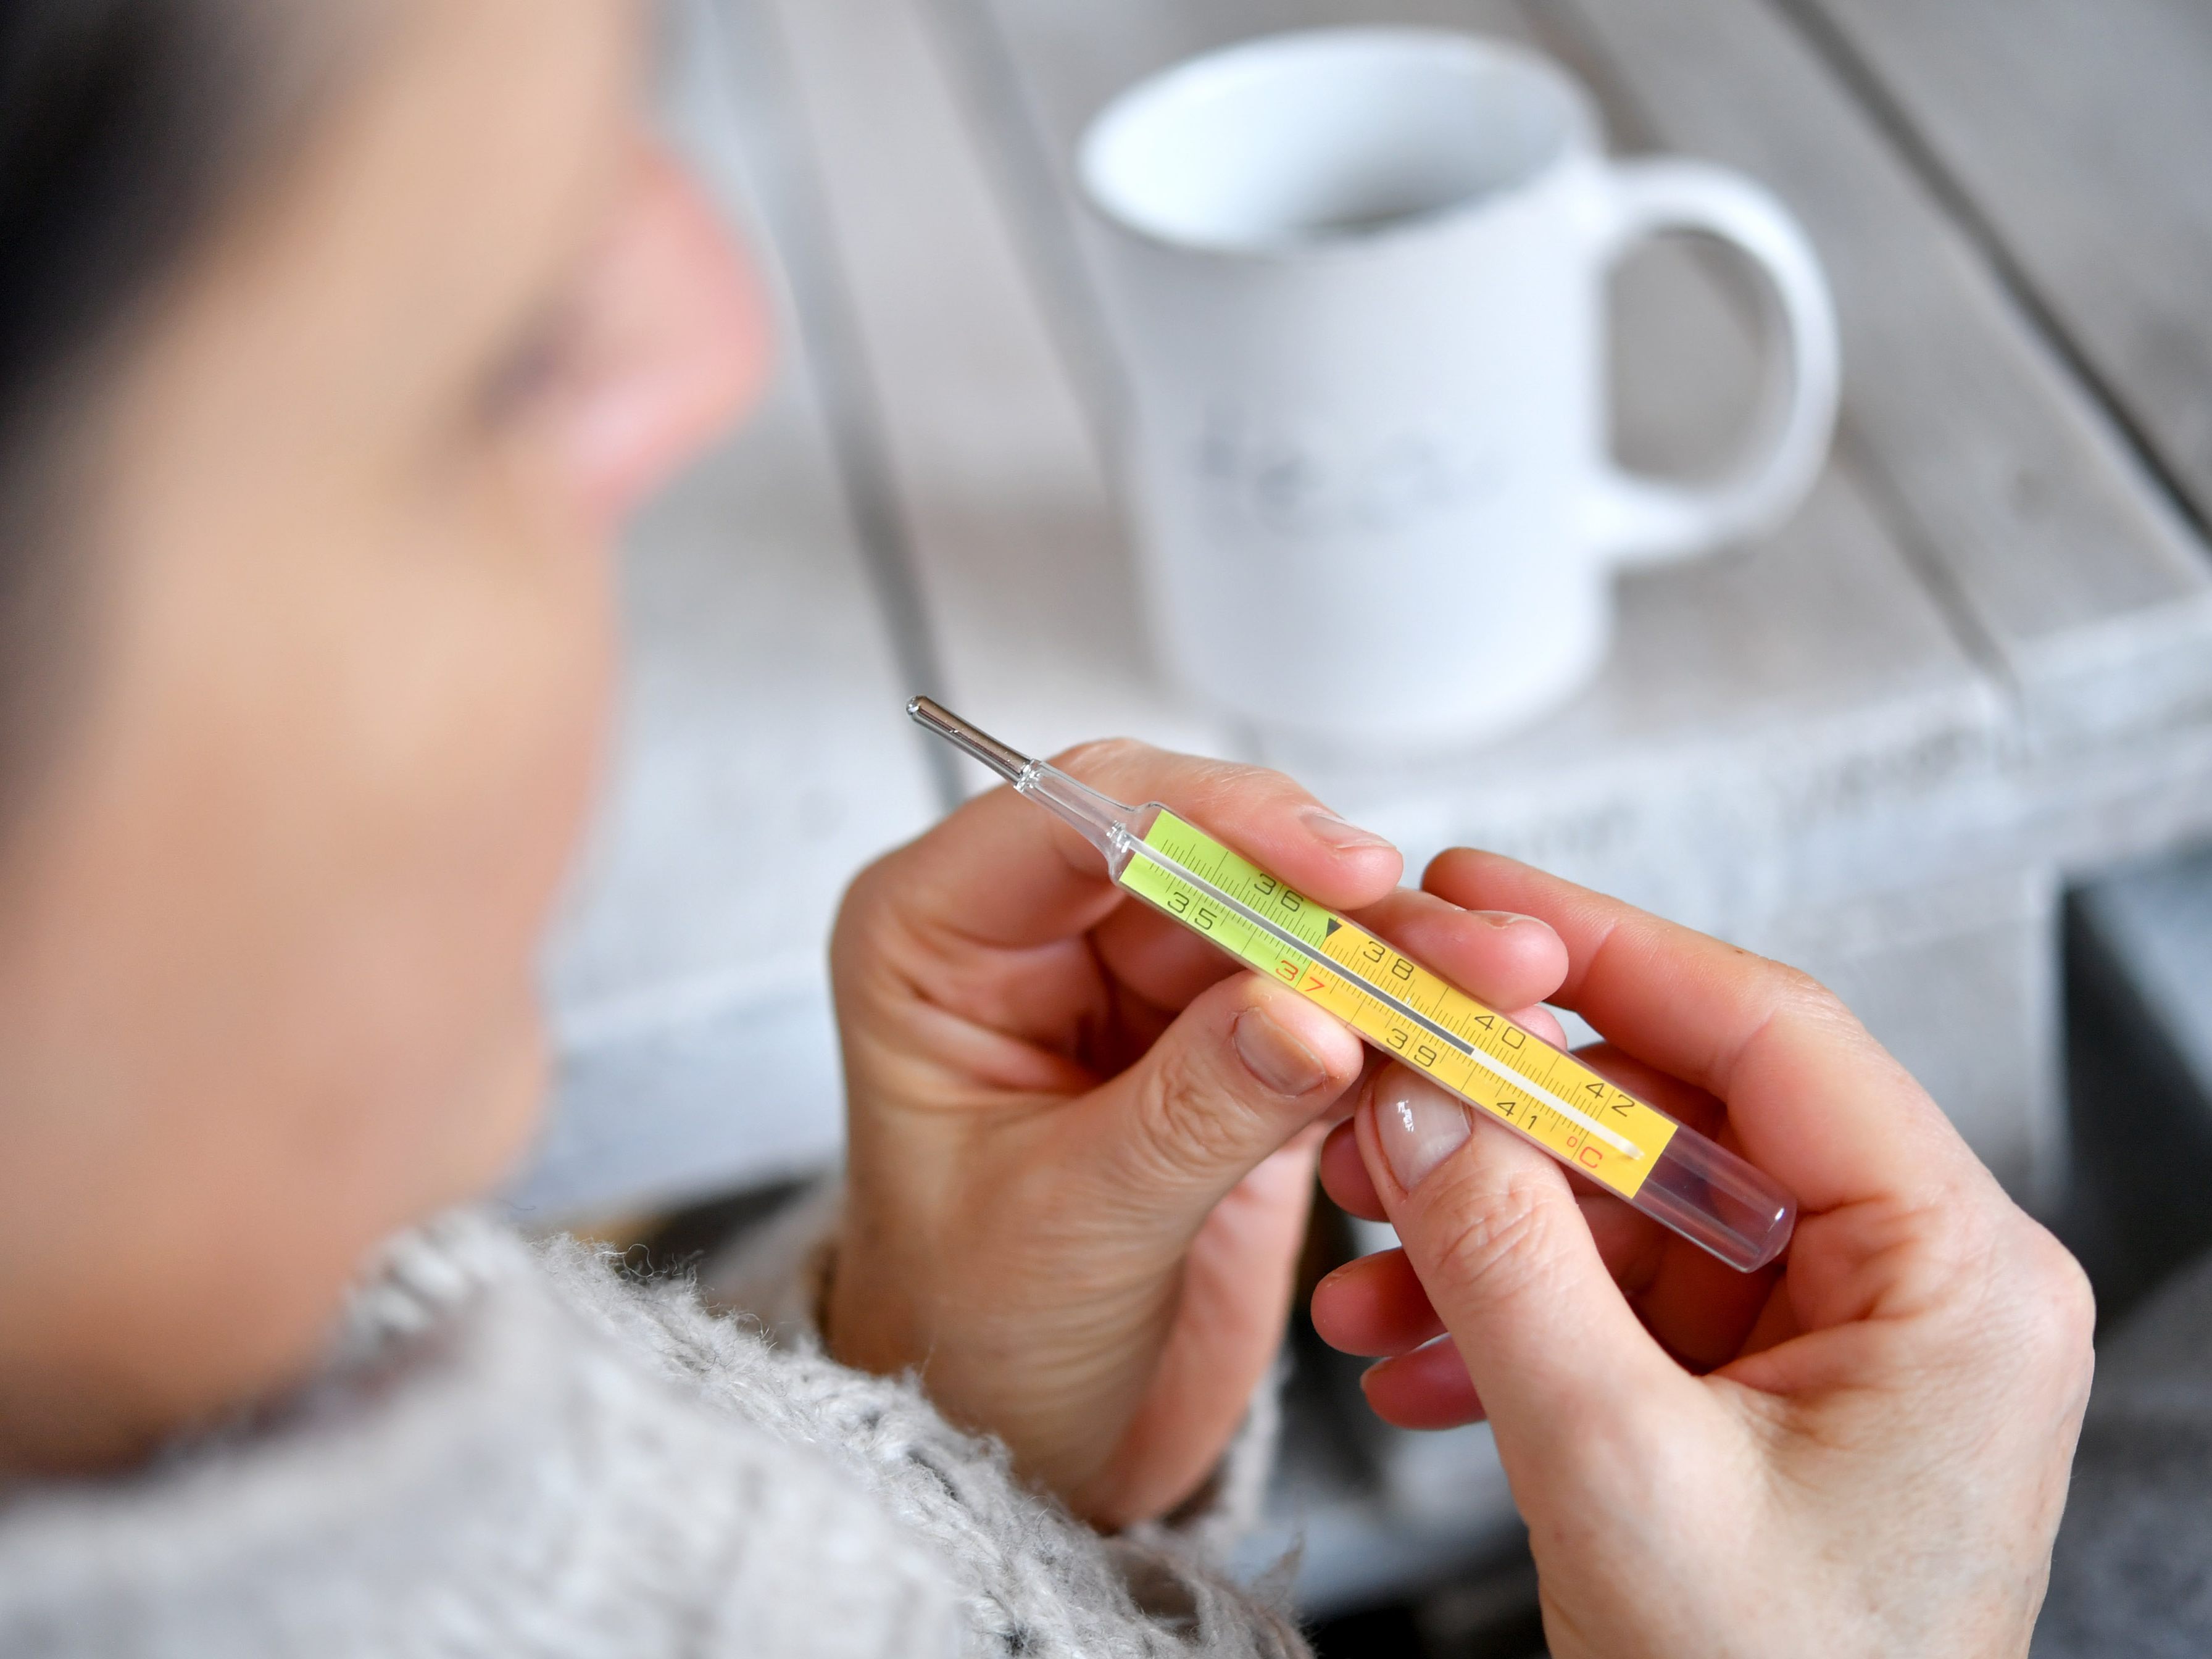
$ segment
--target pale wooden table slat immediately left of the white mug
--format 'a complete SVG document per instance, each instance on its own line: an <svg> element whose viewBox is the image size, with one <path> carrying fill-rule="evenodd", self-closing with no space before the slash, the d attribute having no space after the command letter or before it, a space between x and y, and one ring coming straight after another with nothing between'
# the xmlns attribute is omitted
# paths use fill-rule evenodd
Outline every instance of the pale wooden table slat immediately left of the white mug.
<svg viewBox="0 0 2212 1659"><path fill-rule="evenodd" d="M1234 752L1152 672L1086 409L909 0L768 0L823 179L945 695L1042 752ZM969 772L984 783L980 768Z"/></svg>

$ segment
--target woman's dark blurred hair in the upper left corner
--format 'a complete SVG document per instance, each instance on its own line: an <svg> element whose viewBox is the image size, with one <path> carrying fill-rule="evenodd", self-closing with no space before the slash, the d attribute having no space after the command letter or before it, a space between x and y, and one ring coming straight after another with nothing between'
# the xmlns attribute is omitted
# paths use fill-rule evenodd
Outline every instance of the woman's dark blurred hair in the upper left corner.
<svg viewBox="0 0 2212 1659"><path fill-rule="evenodd" d="M80 418L265 133L272 18L268 0L0 4L0 765L71 655L55 509Z"/></svg>

